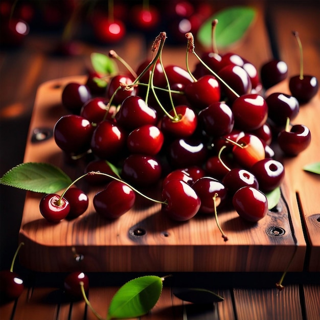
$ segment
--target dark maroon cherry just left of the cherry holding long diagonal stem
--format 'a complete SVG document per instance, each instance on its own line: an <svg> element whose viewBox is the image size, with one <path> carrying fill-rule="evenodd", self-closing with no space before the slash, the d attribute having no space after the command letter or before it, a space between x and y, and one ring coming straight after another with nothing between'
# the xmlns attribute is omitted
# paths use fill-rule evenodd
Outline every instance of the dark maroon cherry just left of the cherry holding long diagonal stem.
<svg viewBox="0 0 320 320"><path fill-rule="evenodd" d="M224 102L214 102L200 110L198 119L203 130L216 138L230 133L235 123L231 108Z"/></svg>

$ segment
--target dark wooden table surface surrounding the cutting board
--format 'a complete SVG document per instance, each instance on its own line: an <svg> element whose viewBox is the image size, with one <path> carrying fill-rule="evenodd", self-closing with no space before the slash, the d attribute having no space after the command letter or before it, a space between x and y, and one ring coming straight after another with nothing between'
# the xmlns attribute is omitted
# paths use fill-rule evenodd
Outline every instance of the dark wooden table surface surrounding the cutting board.
<svg viewBox="0 0 320 320"><path fill-rule="evenodd" d="M293 1L290 5L285 1L241 3L256 6L258 18L254 27L240 43L231 48L231 51L246 57L258 68L272 56L279 57L287 62L290 75L298 74L299 51L291 36L291 31L297 30L304 45L305 72L320 79L318 1ZM107 53L110 49L115 49L132 66L138 65L149 54L148 45L139 34L130 35L116 47L80 43L81 53L74 57L50 55L49 52L56 40L55 34L35 34L26 39L24 47L20 50L1 51L1 175L24 160L34 100L42 83L85 74L91 52ZM184 55L184 52L184 46L165 47L164 63L183 66L181 55ZM194 57L191 57L190 61L191 65L194 64ZM318 94L311 102L312 107L317 110L320 106L319 99ZM312 157L319 160L319 153L313 154ZM313 186L319 185L317 177L312 176L311 179L314 181ZM295 188L294 181L296 180L292 179L289 183ZM10 267L17 247L26 193L10 187L0 188L0 262L1 269L4 269ZM292 203L293 211L298 212L298 215L299 209L303 208L302 225L306 223L307 226L305 234L301 233L302 239L299 239L300 242L305 241L305 245L300 247L305 263L296 261L296 268L285 278L285 290L278 292L275 288L282 269L272 272L173 272L172 279L165 283L161 299L151 313L142 319L317 319L320 314L319 212L310 218L308 210L312 205L303 201L304 197L308 196L306 193L299 194L301 203ZM318 199L315 201L319 203ZM299 222L301 223L294 223ZM24 276L27 286L17 301L1 304L1 318L95 318L83 301L68 303L61 300L59 290L65 276L64 272L36 272L19 264L16 265L16 270ZM147 273L150 272L89 272L89 300L94 308L104 315L108 302L119 286L127 280ZM163 276L163 273L159 276ZM210 306L185 303L172 294L174 287L181 286L208 287L222 295L225 300Z"/></svg>

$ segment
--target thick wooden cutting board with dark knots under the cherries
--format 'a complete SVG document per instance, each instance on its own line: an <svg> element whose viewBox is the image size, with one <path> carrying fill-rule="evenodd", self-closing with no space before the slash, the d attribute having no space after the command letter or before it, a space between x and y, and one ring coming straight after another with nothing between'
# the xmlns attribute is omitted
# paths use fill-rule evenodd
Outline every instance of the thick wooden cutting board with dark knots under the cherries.
<svg viewBox="0 0 320 320"><path fill-rule="evenodd" d="M43 83L36 95L24 162L46 162L62 168L71 178L83 173L83 162L65 162L50 138L56 121L67 112L61 105L63 86L85 77ZM282 83L272 90L286 92ZM278 212L270 211L258 223L243 221L233 211L218 212L228 236L224 242L213 216L196 216L174 222L161 214L161 205L138 197L134 208L115 221L101 218L92 198L97 190L78 185L88 193L88 210L75 220L50 223L39 212L42 194L27 192L19 232L24 241L20 261L36 271L310 271L320 269L319 176L303 165L320 161L320 99L315 97L294 123L312 131L312 143L297 157L285 159L286 175ZM33 142L35 131L48 139ZM317 139L318 138L318 139ZM152 190L150 191L152 194ZM157 192L154 191L154 196ZM304 232L305 230L305 232ZM306 238L306 239L305 239Z"/></svg>

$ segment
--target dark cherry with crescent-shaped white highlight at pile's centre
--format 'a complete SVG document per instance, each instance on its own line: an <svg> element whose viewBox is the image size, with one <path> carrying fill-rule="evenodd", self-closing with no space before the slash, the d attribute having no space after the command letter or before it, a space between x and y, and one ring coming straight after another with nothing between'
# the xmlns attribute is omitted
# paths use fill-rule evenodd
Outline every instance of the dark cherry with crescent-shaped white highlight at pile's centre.
<svg viewBox="0 0 320 320"><path fill-rule="evenodd" d="M176 139L167 151L169 164L173 168L201 166L207 157L207 148L200 139Z"/></svg>

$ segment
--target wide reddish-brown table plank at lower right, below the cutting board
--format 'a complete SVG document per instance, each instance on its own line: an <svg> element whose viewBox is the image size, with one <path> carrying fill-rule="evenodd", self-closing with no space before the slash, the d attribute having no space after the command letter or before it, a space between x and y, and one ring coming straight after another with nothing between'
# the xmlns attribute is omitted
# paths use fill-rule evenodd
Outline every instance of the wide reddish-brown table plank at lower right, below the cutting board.
<svg viewBox="0 0 320 320"><path fill-rule="evenodd" d="M299 287L273 289L235 288L235 310L238 320L302 320Z"/></svg>

